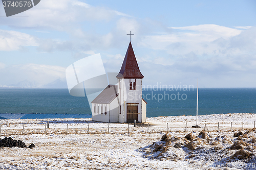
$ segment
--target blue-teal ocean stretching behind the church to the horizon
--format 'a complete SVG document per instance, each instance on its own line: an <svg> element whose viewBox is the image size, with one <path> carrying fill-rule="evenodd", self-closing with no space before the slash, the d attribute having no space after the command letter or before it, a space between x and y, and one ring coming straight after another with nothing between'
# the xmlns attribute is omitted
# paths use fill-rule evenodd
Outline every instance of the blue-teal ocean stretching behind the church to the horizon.
<svg viewBox="0 0 256 170"><path fill-rule="evenodd" d="M147 117L196 115L196 88L145 89L143 98ZM90 112L87 98L71 96L68 89L0 88L0 116L83 118ZM256 88L199 88L198 115L216 113L256 113Z"/></svg>

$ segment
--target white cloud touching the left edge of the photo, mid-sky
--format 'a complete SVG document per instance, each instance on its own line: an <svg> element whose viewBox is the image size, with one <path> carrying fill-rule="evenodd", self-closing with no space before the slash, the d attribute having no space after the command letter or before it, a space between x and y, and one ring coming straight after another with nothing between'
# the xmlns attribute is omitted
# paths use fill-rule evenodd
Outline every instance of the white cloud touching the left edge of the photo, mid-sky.
<svg viewBox="0 0 256 170"><path fill-rule="evenodd" d="M0 30L0 51L20 50L22 46L37 46L38 39L29 34Z"/></svg>

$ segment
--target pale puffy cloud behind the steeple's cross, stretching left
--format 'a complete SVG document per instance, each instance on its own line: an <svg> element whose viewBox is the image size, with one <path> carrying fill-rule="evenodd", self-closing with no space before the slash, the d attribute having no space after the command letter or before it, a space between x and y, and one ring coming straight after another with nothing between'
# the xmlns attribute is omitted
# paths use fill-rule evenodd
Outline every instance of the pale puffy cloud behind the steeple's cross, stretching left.
<svg viewBox="0 0 256 170"><path fill-rule="evenodd" d="M116 21L116 26L113 30L105 34L96 34L92 32L83 31L81 29L74 30L71 34L74 41L72 41L73 49L83 47L84 51L105 51L111 48L120 48L127 45L129 42L129 34L132 32L132 40L139 41L143 36L143 29L141 23L134 18L121 17ZM82 49L79 49L80 51Z"/></svg>

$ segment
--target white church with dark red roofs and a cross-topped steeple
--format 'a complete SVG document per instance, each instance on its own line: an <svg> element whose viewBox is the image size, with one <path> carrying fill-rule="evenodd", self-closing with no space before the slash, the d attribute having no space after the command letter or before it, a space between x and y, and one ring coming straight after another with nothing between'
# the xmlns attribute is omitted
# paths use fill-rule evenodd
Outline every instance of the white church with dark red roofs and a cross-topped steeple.
<svg viewBox="0 0 256 170"><path fill-rule="evenodd" d="M131 34L131 33L130 33ZM91 103L92 120L107 123L146 122L146 101L132 43L116 76L117 85L108 85Z"/></svg>

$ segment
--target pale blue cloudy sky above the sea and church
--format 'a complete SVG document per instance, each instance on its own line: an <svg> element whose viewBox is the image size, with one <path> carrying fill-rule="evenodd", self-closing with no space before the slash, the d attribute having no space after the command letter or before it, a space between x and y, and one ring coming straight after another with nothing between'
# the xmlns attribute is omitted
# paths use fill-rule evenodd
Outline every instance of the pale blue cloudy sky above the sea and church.
<svg viewBox="0 0 256 170"><path fill-rule="evenodd" d="M60 80L100 53L119 72L132 45L143 84L256 87L255 1L41 0L5 17L0 5L0 87Z"/></svg>

